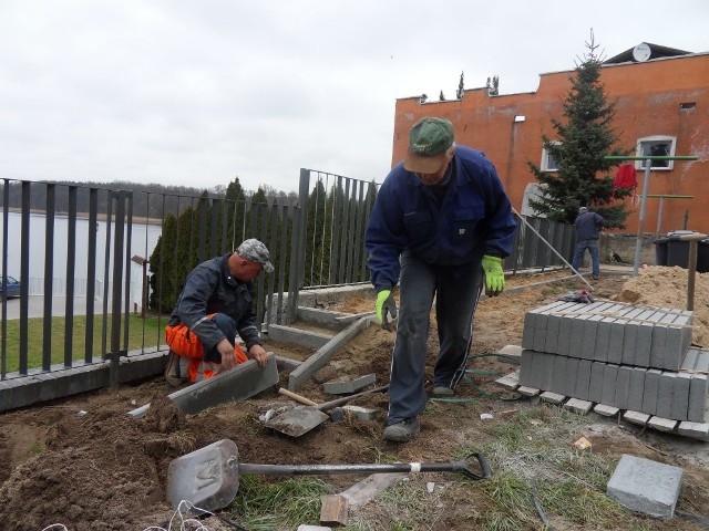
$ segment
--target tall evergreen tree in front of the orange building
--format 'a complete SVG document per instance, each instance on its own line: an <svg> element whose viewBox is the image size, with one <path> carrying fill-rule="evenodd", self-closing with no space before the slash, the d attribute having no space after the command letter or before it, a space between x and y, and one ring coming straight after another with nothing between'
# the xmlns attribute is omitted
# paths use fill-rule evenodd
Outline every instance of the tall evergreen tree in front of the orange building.
<svg viewBox="0 0 709 531"><path fill-rule="evenodd" d="M615 103L608 103L600 83L602 60L593 31L586 48L588 52L569 76L572 87L563 103L565 121L552 118L556 138L542 137L558 170L543 171L527 162L543 189L543 196L530 199L530 205L552 220L569 223L578 215L578 207L586 206L605 218L606 227L623 228L628 211L616 199L628 197L631 190L614 190L609 170L617 163L605 157L627 155L628 150L612 129Z"/></svg>

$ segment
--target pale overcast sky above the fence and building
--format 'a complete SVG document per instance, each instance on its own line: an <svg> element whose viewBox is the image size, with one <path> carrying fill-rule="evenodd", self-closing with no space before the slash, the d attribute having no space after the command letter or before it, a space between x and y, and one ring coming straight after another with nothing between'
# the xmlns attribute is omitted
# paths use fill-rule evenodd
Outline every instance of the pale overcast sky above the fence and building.
<svg viewBox="0 0 709 531"><path fill-rule="evenodd" d="M709 51L707 0L0 0L0 177L381 181L397 98L533 92L593 28Z"/></svg>

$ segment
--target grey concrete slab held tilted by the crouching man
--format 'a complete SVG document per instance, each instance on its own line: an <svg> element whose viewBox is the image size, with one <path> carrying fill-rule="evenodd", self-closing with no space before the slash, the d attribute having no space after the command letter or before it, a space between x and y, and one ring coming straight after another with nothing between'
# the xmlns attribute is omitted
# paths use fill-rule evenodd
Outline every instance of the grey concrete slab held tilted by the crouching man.
<svg viewBox="0 0 709 531"><path fill-rule="evenodd" d="M168 397L183 412L195 415L227 402L242 402L278 383L276 355L268 353L268 364L261 369L254 360L171 393Z"/></svg>

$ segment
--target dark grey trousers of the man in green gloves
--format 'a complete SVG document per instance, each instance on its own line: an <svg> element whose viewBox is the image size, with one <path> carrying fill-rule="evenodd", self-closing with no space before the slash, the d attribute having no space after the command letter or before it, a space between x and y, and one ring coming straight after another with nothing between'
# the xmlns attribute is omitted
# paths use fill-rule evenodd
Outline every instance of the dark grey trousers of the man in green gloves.
<svg viewBox="0 0 709 531"><path fill-rule="evenodd" d="M483 272L479 262L471 263L463 274L460 271L460 267L425 263L409 251L401 254L399 323L391 361L387 425L415 417L425 409L423 386L434 296L440 351L433 385L454 388L465 374Z"/></svg>

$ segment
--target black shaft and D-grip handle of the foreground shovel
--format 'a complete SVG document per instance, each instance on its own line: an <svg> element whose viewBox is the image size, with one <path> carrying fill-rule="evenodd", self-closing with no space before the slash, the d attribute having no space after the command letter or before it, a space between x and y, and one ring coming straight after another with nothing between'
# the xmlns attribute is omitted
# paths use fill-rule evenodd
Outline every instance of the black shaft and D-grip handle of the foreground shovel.
<svg viewBox="0 0 709 531"><path fill-rule="evenodd" d="M475 458L480 468L474 471L469 461ZM470 479L489 479L492 476L487 459L480 454L470 454L465 459L452 462L397 462L392 465L253 465L239 464L239 473L261 473L267 476L304 476L319 473L393 473L393 472L461 472Z"/></svg>

